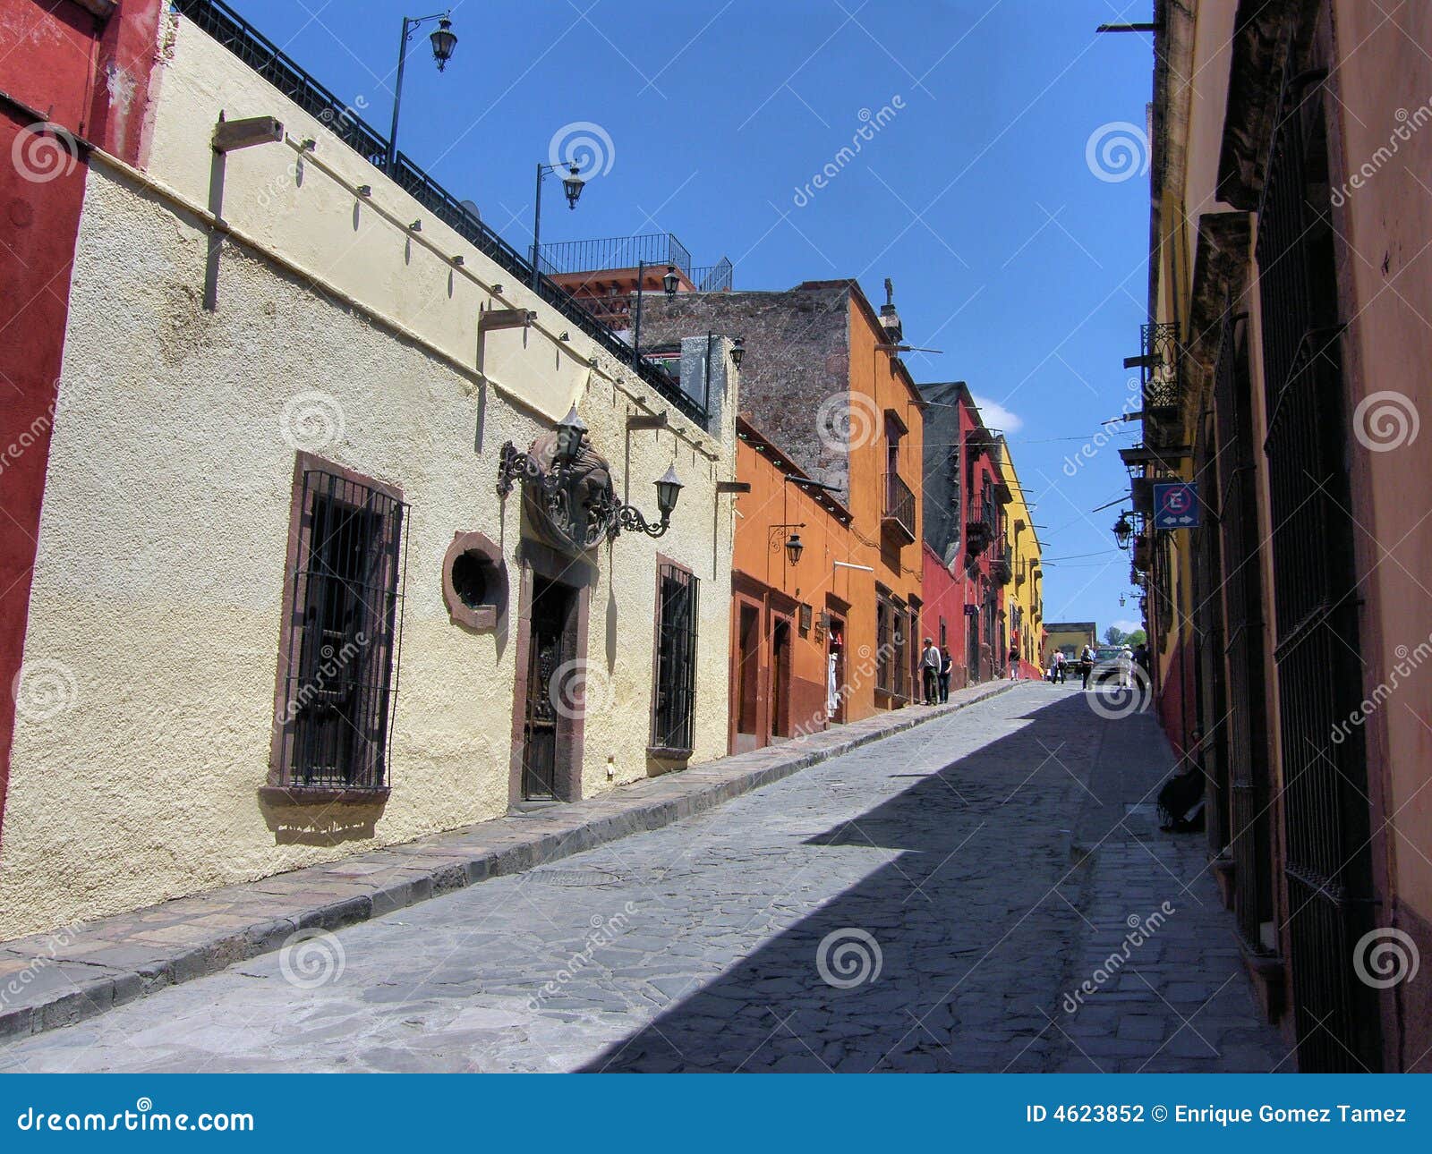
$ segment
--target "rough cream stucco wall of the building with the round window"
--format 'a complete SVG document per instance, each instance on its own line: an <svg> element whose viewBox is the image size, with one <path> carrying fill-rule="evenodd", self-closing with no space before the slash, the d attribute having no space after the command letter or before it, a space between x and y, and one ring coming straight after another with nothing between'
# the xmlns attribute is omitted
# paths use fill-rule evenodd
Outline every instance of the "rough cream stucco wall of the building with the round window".
<svg viewBox="0 0 1432 1154"><path fill-rule="evenodd" d="M619 494L653 510L673 461L686 484L667 535L623 534L593 554L600 707L583 793L656 769L659 551L702 581L693 760L725 753L732 517L715 483L733 474L735 395L702 430L425 219L421 239L465 252L465 269L438 259L392 223L422 216L414 202L192 26L162 73L147 173L96 156L86 189L24 651L73 692L64 709L17 717L0 939L505 813L521 517L516 493L494 491L497 455L573 399ZM225 245L209 312L202 209L221 107L275 115L319 147L301 180L284 143L229 157L222 215L246 242ZM371 200L345 180L371 185ZM493 283L538 322L483 348ZM672 427L629 434L636 397ZM269 809L256 795L296 447L411 503L385 806ZM508 563L508 613L491 633L453 624L442 601L444 553L468 530Z"/></svg>

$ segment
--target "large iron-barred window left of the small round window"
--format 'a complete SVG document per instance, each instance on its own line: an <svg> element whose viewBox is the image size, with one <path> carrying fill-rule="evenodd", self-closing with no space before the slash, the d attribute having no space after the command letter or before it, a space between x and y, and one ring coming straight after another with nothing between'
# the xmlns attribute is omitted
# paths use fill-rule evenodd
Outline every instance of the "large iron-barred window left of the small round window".
<svg viewBox="0 0 1432 1154"><path fill-rule="evenodd" d="M397 490L301 454L271 785L388 786L405 511Z"/></svg>

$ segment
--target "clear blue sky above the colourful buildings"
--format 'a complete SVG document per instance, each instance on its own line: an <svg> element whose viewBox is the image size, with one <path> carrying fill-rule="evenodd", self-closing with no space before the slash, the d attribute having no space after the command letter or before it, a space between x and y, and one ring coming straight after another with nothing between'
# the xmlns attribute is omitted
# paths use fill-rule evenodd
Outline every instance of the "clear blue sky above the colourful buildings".
<svg viewBox="0 0 1432 1154"><path fill-rule="evenodd" d="M432 0L229 3L387 133L401 17ZM879 302L892 278L906 341L944 351L909 354L915 378L968 381L1010 437L1045 527L1047 619L1103 630L1137 616L1117 508L1093 510L1127 493L1114 450L1137 427L1095 437L1130 398L1146 314L1153 54L1094 29L1151 9L457 0L447 72L428 29L411 49L400 145L526 251L536 163L586 122L604 172L576 212L548 182L544 241L673 232L745 289L858 276Z"/></svg>

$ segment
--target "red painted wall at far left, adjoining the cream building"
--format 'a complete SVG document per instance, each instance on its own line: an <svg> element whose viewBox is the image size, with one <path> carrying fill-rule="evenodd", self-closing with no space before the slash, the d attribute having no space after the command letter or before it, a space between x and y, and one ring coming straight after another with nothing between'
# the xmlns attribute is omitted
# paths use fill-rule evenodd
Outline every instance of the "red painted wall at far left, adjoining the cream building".
<svg viewBox="0 0 1432 1154"><path fill-rule="evenodd" d="M86 142L137 163L160 9L0 0L0 836Z"/></svg>

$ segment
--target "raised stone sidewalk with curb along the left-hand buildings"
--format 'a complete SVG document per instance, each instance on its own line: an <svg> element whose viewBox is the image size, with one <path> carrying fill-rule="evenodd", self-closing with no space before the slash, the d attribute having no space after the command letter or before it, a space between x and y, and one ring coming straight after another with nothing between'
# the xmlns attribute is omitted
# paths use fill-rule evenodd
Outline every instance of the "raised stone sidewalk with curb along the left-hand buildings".
<svg viewBox="0 0 1432 1154"><path fill-rule="evenodd" d="M909 706L779 746L693 765L597 797L0 942L0 1041L106 1009L454 889L520 873L715 809L808 766L995 697L992 682L944 706Z"/></svg>

